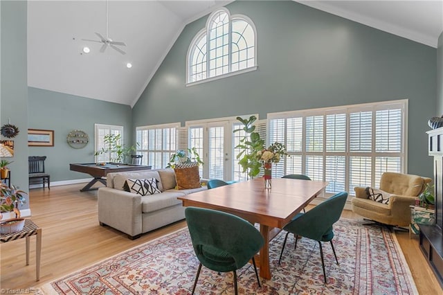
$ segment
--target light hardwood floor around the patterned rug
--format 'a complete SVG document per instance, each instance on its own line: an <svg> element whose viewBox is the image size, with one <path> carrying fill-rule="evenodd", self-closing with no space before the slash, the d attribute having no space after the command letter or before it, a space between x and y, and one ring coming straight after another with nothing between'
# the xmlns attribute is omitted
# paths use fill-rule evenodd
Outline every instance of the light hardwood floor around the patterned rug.
<svg viewBox="0 0 443 295"><path fill-rule="evenodd" d="M25 239L1 244L0 287L3 292L8 289L26 291L26 288L48 283L186 226L184 221L177 222L142 235L137 240L129 240L123 233L99 226L97 190L80 193L83 186L84 184L55 186L51 191L47 188L30 190L33 215L30 218L42 228L43 234L40 280L35 281L35 237L31 238L28 266L25 266ZM342 217L361 218L352 211L343 211ZM419 294L443 294L431 268L419 251L417 237L410 239L408 233L397 232L397 239Z"/></svg>

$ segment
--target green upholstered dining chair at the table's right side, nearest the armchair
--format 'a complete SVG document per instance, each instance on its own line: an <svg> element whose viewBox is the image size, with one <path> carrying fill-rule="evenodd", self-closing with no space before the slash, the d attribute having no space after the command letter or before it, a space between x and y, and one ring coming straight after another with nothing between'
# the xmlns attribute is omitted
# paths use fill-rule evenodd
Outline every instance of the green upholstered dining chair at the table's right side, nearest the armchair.
<svg viewBox="0 0 443 295"><path fill-rule="evenodd" d="M284 230L287 231L284 237L282 252L280 253L280 260L282 260L284 245L288 238L289 233L293 233L296 236L295 248L297 248L298 235L318 241L320 246L321 264L323 267L323 276L325 276L326 283L326 271L325 261L323 260L323 249L321 242L330 242L332 251L334 252L335 260L338 264L338 259L335 253L334 244L332 244L332 238L334 238L334 231L332 225L340 219L341 212L345 207L347 199L347 193L338 193L333 197L330 197L325 202L315 206L307 213L298 213L296 217L293 217L289 224L284 226Z"/></svg>

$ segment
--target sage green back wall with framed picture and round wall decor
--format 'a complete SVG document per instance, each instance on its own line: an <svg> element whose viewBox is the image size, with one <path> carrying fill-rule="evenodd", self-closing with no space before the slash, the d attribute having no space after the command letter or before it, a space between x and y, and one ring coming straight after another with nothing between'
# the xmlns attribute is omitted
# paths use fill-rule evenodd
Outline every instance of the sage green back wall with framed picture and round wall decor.
<svg viewBox="0 0 443 295"><path fill-rule="evenodd" d="M66 93L28 88L29 128L54 130L53 147L29 147L30 156L46 156L46 172L51 181L84 179L87 174L69 170L69 163L94 162L94 124L123 126L125 143L130 145L131 107L113 102L93 100ZM89 135L89 143L74 149L66 142L73 129Z"/></svg>

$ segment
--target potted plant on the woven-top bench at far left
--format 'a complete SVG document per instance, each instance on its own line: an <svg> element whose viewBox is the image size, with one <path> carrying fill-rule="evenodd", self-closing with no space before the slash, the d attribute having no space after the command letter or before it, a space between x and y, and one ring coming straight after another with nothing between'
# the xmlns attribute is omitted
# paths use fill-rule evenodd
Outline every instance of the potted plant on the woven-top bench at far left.
<svg viewBox="0 0 443 295"><path fill-rule="evenodd" d="M25 192L15 188L8 187L6 184L0 184L0 220L3 218L1 213L14 212L15 218L0 221L0 233L15 233L21 231L24 227L25 220L20 218L19 205L26 202Z"/></svg>

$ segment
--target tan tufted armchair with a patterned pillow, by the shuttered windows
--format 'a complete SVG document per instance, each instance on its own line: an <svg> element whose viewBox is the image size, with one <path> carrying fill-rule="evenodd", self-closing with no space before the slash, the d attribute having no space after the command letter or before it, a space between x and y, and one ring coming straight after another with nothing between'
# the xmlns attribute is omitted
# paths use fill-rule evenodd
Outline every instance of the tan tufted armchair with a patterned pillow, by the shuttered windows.
<svg viewBox="0 0 443 295"><path fill-rule="evenodd" d="M381 175L380 189L393 194L389 204L368 199L366 188L354 188L352 211L373 220L375 223L388 226L408 226L410 223L410 205L415 203L418 195L424 190L424 185L432 181L428 177L385 172Z"/></svg>

